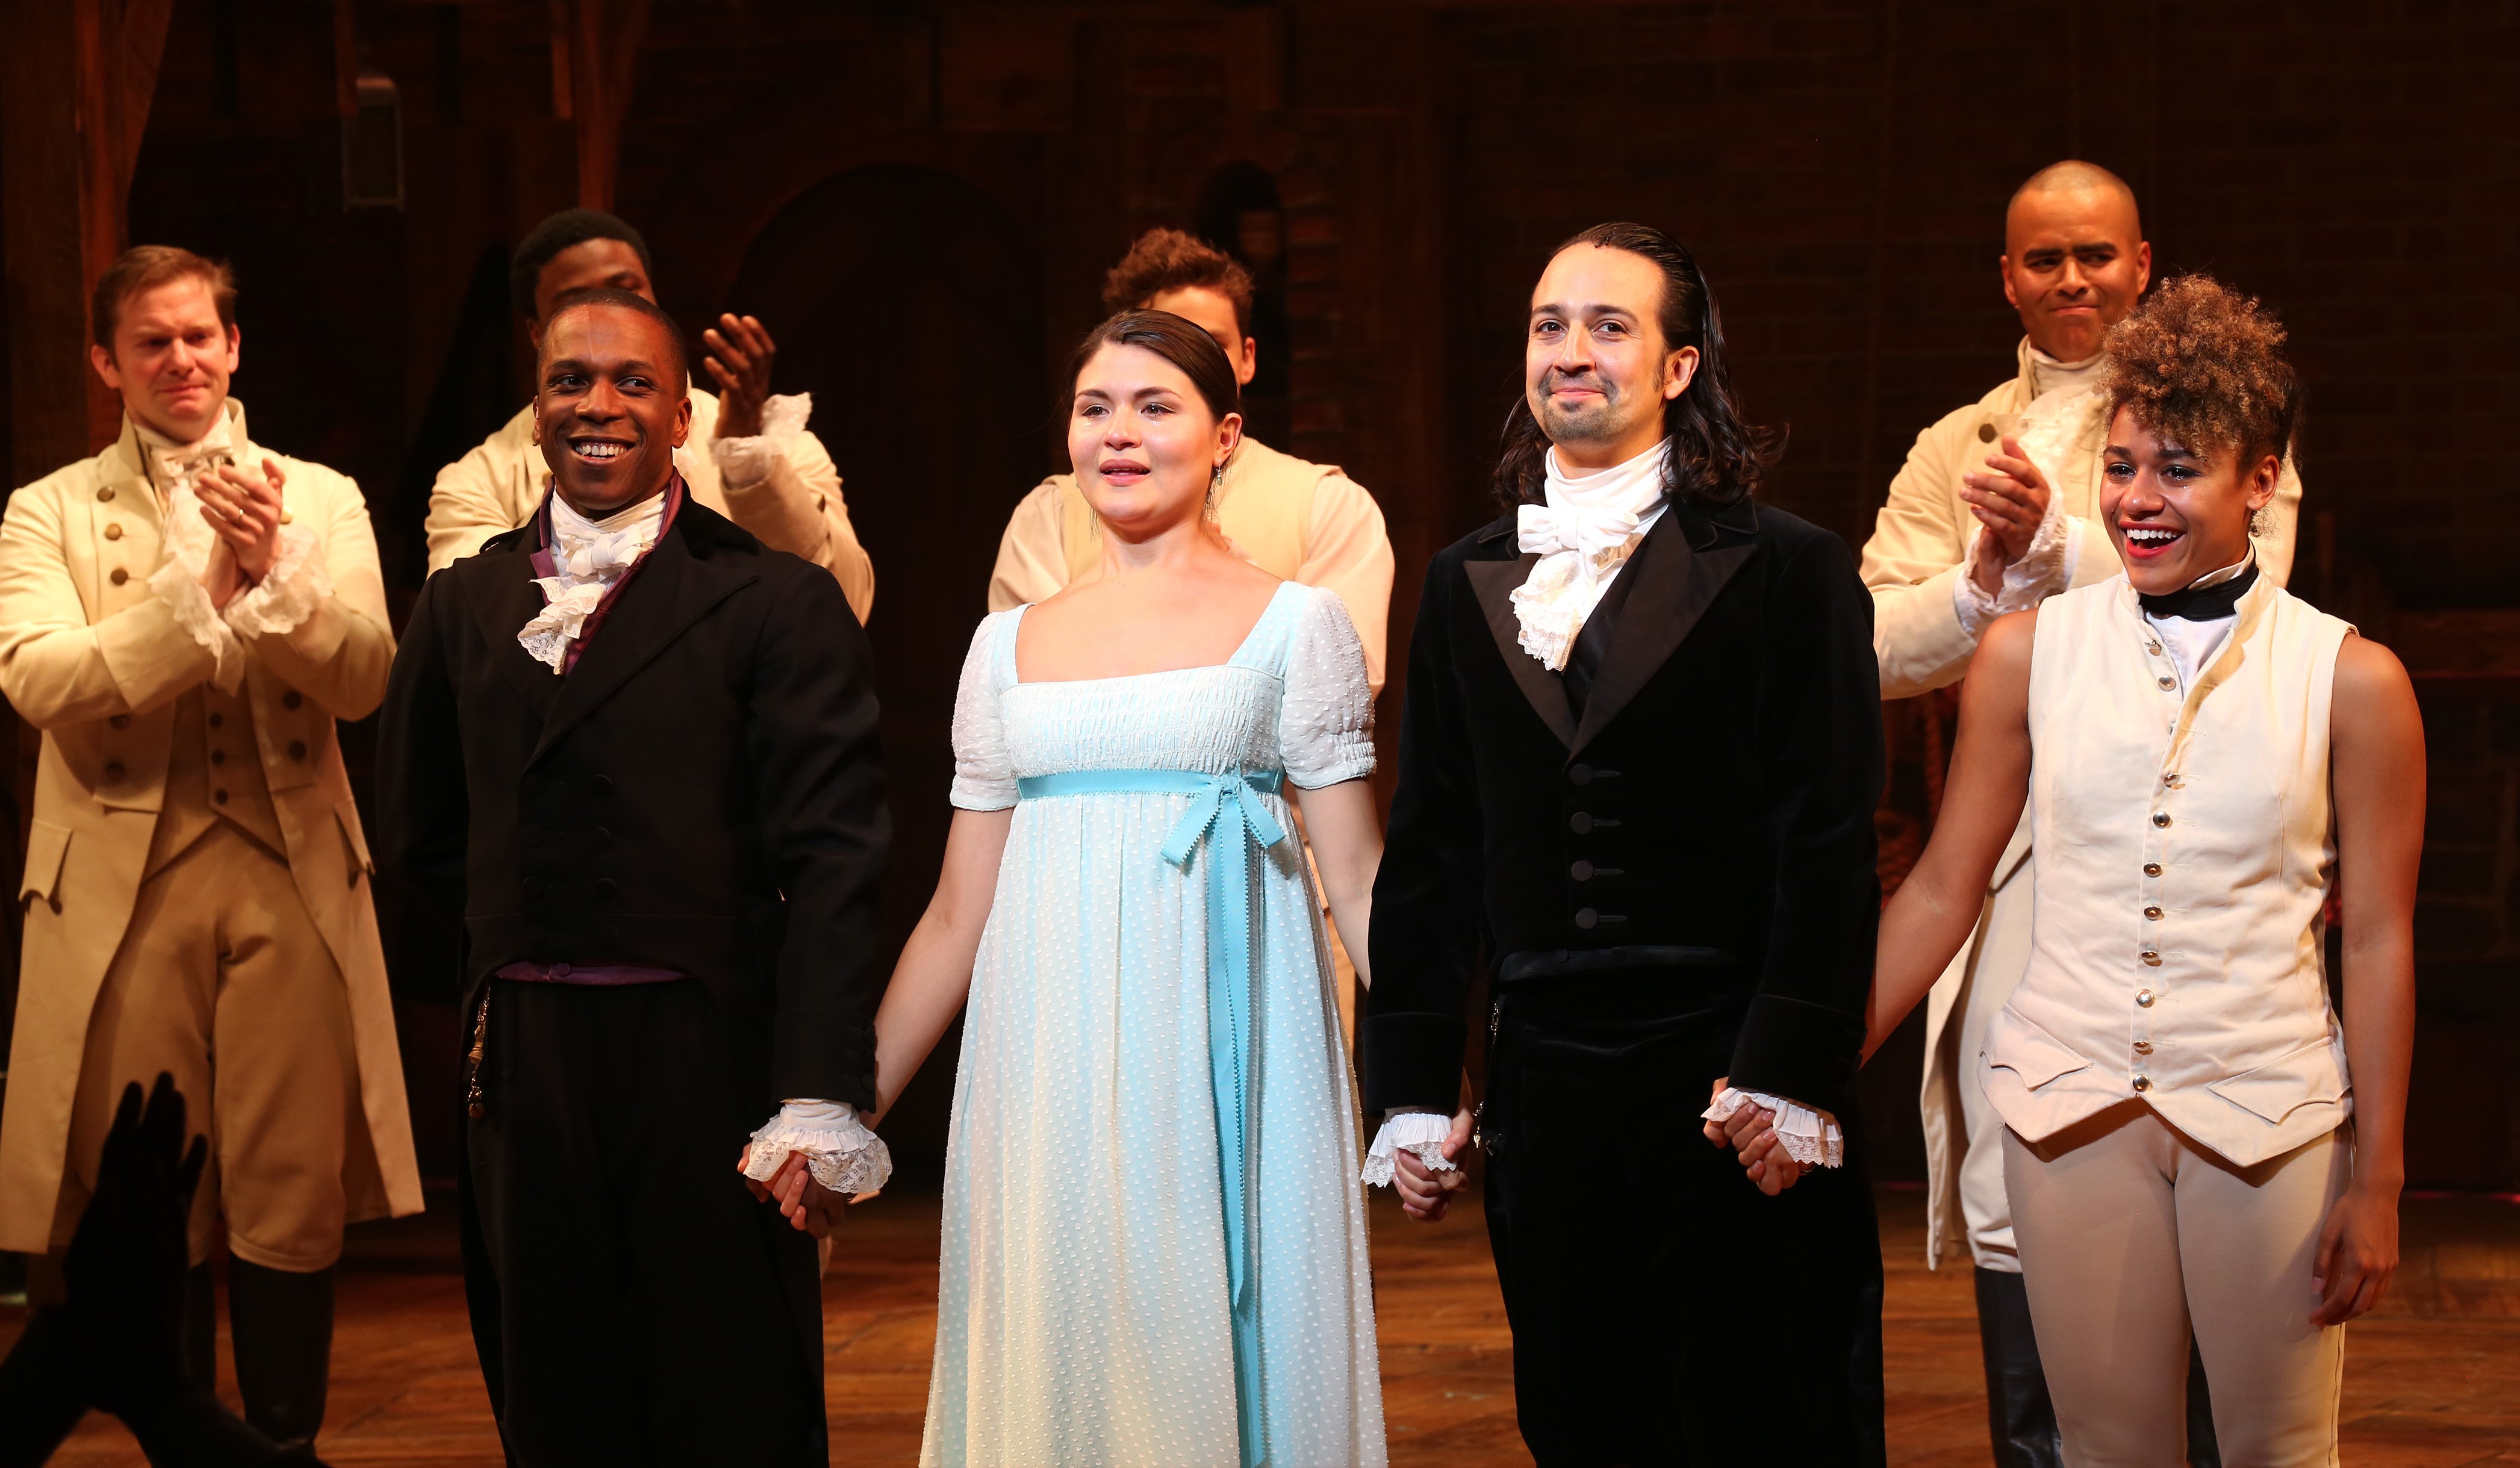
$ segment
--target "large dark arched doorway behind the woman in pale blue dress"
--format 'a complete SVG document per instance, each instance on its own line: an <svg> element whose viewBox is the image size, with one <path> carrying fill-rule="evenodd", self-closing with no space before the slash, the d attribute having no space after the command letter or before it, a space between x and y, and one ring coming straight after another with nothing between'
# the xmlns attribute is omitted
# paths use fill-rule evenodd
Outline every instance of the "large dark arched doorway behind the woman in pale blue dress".
<svg viewBox="0 0 2520 1468"><path fill-rule="evenodd" d="M874 556L877 690L892 788L885 962L935 889L953 700L988 572L1043 463L1041 264L993 199L935 169L872 166L799 194L728 295L779 340L776 390L814 393L814 433ZM885 1136L945 1153L948 1035Z"/></svg>

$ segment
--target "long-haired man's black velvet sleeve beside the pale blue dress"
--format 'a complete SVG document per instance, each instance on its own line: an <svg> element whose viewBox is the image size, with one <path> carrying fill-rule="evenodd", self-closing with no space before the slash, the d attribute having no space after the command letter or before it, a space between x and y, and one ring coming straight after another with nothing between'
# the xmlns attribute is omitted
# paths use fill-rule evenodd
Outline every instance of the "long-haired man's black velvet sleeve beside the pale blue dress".
<svg viewBox="0 0 2520 1468"><path fill-rule="evenodd" d="M1366 990L1366 1113L1452 1110L1462 1095L1462 1000L1477 957L1487 846L1479 771L1454 672L1459 564L1426 572L1409 642L1399 788L1373 876L1373 987Z"/></svg>

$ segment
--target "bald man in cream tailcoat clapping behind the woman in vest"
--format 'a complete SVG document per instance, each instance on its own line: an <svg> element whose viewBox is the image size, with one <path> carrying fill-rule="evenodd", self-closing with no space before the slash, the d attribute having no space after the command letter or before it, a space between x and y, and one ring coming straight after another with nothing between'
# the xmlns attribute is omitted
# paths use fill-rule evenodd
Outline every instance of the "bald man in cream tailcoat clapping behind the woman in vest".
<svg viewBox="0 0 2520 1468"><path fill-rule="evenodd" d="M1890 481L1862 577L1882 697L1913 697L1968 675L1986 624L2003 612L2119 574L2099 524L2107 436L2102 332L2152 274L2134 191L2094 164L2034 174L2003 217L2003 295L2021 315L2019 370L1986 398L1915 438ZM2283 584L2293 564L2301 481L2291 461L2253 534L2258 567ZM2003 1201L2003 1121L1973 1083L1988 1020L2029 962L2029 821L1996 864L1978 934L1925 1007L1925 1262L1968 1241L1986 1345L1988 1418L2003 1468L2059 1463L2056 1420L2031 1337ZM2192 1455L2215 1460L2205 1392L2190 1392Z"/></svg>

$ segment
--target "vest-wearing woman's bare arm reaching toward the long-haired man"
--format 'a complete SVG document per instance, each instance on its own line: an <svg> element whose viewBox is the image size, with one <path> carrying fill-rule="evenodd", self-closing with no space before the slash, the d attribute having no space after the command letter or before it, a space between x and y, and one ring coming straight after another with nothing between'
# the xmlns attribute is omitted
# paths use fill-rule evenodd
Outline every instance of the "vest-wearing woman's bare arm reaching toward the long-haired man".
<svg viewBox="0 0 2520 1468"><path fill-rule="evenodd" d="M1998 617L1968 662L1961 738L1943 781L1933 841L1882 909L1865 1015L1865 1060L1950 967L1986 912L1986 881L2021 823L2031 788L2031 635L2036 612Z"/></svg>

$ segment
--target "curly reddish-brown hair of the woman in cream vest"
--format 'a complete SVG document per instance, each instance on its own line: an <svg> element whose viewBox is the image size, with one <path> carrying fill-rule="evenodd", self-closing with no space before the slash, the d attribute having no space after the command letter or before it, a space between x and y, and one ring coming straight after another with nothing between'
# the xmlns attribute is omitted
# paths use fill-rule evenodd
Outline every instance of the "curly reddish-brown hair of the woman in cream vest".
<svg viewBox="0 0 2520 1468"><path fill-rule="evenodd" d="M2192 453L2291 458L2301 378L2283 355L2283 322L2210 274L2165 279L2109 327L2109 415L2134 408L2145 428Z"/></svg>

